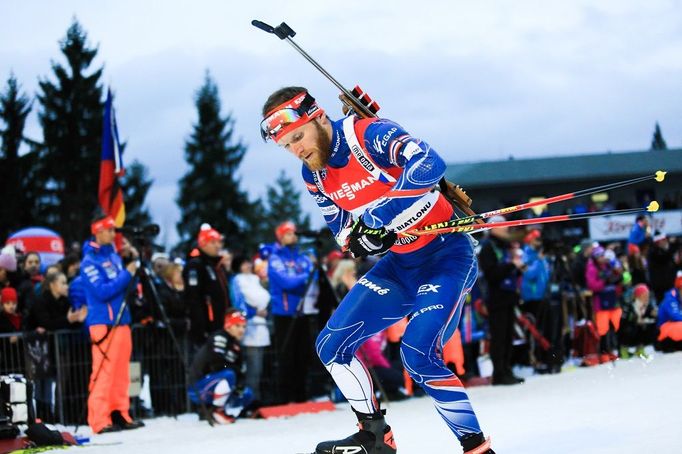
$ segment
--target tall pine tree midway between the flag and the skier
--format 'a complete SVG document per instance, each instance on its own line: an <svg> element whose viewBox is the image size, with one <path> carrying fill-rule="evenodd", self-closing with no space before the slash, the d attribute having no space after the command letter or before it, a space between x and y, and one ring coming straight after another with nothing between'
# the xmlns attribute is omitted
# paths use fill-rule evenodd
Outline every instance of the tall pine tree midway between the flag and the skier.
<svg viewBox="0 0 682 454"><path fill-rule="evenodd" d="M257 238L249 229L257 205L240 189L236 175L246 147L233 138L232 116L221 116L218 87L208 72L194 101L198 120L185 142L190 169L180 180L176 199L181 213L180 248L188 249L204 222L225 236L228 248L255 247Z"/></svg>

